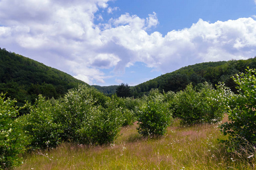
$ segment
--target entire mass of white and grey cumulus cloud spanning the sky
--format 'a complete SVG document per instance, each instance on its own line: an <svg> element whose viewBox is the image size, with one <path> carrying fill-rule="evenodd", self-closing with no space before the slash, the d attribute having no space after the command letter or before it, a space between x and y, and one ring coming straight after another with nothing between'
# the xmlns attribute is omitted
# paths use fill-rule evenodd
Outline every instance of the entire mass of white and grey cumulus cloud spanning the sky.
<svg viewBox="0 0 256 170"><path fill-rule="evenodd" d="M155 12L147 18L126 13L108 24L95 24L94 20L103 20L100 14L94 16L99 8L118 10L108 7L108 1L2 0L0 46L89 84L123 74L135 62L168 73L198 62L255 56L252 18L216 23L199 19L190 28L148 34L159 24Z"/></svg>

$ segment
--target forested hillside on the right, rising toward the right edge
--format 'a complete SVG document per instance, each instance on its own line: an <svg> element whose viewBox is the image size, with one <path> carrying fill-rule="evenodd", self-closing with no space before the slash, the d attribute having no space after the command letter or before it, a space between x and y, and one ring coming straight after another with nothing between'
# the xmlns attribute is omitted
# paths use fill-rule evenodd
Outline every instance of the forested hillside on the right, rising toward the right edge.
<svg viewBox="0 0 256 170"><path fill-rule="evenodd" d="M160 91L164 90L166 92L177 92L183 90L191 82L193 86L196 86L205 81L213 85L224 82L232 91L236 91L236 84L230 77L244 72L248 66L252 69L256 68L256 57L247 60L198 63L138 84L131 87L131 91L135 97L147 94L152 88L158 88Z"/></svg>

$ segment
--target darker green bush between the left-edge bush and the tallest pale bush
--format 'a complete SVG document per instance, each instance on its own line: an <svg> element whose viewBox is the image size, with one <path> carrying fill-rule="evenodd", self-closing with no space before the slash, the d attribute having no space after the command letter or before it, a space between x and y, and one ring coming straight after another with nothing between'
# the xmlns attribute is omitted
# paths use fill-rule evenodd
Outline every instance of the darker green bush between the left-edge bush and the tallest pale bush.
<svg viewBox="0 0 256 170"><path fill-rule="evenodd" d="M30 114L19 118L33 149L56 147L61 142L61 124L56 122L56 107L51 103L52 100L39 95L35 105L29 104Z"/></svg>

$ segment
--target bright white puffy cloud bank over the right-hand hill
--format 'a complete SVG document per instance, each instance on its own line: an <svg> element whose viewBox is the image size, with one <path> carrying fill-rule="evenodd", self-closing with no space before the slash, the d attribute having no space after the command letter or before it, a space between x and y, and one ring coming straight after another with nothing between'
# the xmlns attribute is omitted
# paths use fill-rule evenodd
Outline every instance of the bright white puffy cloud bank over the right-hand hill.
<svg viewBox="0 0 256 170"><path fill-rule="evenodd" d="M132 54L117 54L121 57L119 63L122 65L118 66L118 63L117 66L121 68L129 62L141 61L148 67L156 67L167 73L193 63L245 59L255 54L256 22L251 18L212 24L200 19L191 28L174 30L164 37L159 32L148 35L143 30L143 19L138 16L126 14L115 23L126 25L117 25L101 35L105 43L114 42L114 46L121 50L123 47L126 53Z"/></svg>

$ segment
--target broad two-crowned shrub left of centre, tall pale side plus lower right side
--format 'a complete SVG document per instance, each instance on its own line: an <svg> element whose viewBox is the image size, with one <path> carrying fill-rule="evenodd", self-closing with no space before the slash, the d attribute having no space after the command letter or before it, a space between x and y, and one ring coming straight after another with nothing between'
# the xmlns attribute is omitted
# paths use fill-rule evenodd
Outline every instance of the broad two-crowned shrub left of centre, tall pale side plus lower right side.
<svg viewBox="0 0 256 170"><path fill-rule="evenodd" d="M122 124L122 109L110 97L98 103L97 91L86 86L70 90L57 109L64 141L103 145L113 142ZM97 104L98 103L98 104Z"/></svg>

